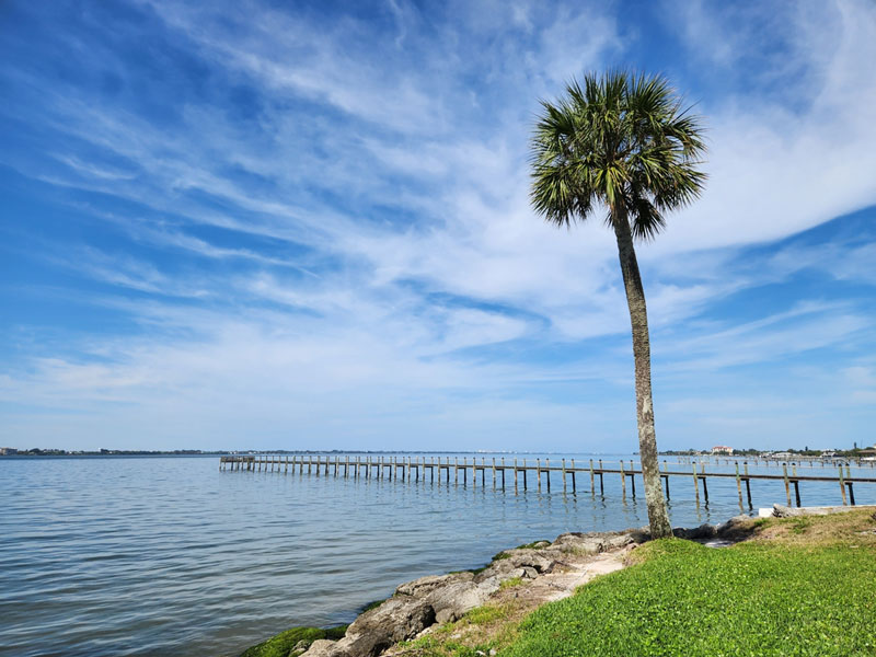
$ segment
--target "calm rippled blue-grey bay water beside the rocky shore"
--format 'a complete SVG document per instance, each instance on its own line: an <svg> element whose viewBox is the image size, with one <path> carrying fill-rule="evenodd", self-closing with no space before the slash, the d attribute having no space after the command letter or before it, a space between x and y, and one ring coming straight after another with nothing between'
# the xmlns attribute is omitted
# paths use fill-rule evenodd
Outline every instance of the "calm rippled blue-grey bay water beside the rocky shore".
<svg viewBox="0 0 876 657"><path fill-rule="evenodd" d="M292 625L349 622L401 581L505 548L646 523L641 480L623 504L619 475L604 497L587 474L577 495L558 475L548 494L531 473L517 495L512 477L505 493L491 474L486 487L425 479L219 472L218 458L0 459L0 655L237 655ZM839 504L838 488L804 482L803 503ZM876 485L855 488L858 504L876 502ZM672 477L670 493L673 525L739 514L731 479L710 481L699 510L692 480ZM753 482L752 495L756 508L784 504L784 484Z"/></svg>

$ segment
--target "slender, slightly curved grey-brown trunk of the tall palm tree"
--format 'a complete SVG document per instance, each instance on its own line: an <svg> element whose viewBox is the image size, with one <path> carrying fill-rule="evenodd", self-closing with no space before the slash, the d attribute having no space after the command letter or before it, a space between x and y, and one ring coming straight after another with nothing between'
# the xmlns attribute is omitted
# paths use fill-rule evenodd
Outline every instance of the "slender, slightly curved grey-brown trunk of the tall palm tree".
<svg viewBox="0 0 876 657"><path fill-rule="evenodd" d="M645 480L645 503L648 507L650 535L655 539L672 535L669 514L660 485L660 464L657 458L657 436L654 430L654 402L650 394L650 338L645 290L638 273L636 251L626 212L613 214L618 255L621 260L626 304L633 325L633 358L636 371L636 419L638 420L638 454L642 460L642 479Z"/></svg>

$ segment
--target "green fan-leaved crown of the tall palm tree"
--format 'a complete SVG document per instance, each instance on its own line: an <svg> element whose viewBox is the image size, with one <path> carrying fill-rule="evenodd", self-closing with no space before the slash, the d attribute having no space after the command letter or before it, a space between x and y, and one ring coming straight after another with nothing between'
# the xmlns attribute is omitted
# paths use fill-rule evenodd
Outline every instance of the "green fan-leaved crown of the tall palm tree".
<svg viewBox="0 0 876 657"><path fill-rule="evenodd" d="M700 118L681 106L668 81L613 71L573 81L544 114L532 139L534 209L569 226L595 206L608 222L627 218L633 235L649 239L664 212L696 198L705 174Z"/></svg>

